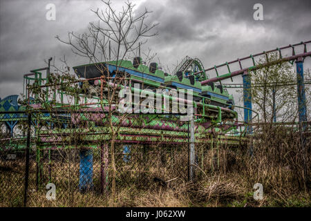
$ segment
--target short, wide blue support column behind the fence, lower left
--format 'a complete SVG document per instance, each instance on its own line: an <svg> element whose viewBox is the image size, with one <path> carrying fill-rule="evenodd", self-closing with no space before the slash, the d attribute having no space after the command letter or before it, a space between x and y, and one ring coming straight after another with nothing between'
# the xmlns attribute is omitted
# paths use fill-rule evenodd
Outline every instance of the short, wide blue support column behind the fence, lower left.
<svg viewBox="0 0 311 221"><path fill-rule="evenodd" d="M80 151L79 190L93 189L93 152Z"/></svg>

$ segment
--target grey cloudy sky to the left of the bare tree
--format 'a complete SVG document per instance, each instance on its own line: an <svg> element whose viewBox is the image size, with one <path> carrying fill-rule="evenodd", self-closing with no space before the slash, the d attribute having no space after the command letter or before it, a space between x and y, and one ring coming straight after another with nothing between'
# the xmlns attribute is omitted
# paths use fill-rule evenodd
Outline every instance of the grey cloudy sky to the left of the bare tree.
<svg viewBox="0 0 311 221"><path fill-rule="evenodd" d="M56 5L56 21L46 20L48 3ZM75 30L81 29L79 24L86 26L88 21L83 23L73 8L84 12L88 20L90 4L82 4L82 1L13 0L0 1L0 5L0 97L3 97L21 93L23 74L45 67L44 59L68 54L68 48L59 44L55 35L66 35L70 26Z"/></svg>

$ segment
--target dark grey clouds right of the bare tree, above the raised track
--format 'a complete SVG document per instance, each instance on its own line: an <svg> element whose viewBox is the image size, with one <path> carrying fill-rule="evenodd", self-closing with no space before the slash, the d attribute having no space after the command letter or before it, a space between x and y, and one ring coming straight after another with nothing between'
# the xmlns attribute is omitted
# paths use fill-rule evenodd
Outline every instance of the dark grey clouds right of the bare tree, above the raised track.
<svg viewBox="0 0 311 221"><path fill-rule="evenodd" d="M263 21L253 19L255 3L263 4ZM311 36L311 1L146 1L140 10L145 6L160 22L151 45L190 52L207 66Z"/></svg>

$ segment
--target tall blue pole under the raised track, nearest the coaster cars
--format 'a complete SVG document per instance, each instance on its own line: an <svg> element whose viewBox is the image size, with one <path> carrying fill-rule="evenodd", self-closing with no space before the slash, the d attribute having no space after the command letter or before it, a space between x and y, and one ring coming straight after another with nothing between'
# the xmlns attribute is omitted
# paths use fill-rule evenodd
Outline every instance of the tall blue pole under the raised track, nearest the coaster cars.
<svg viewBox="0 0 311 221"><path fill-rule="evenodd" d="M252 81L251 76L244 72L243 76L243 102L244 102L244 121L249 122L252 119ZM246 109L249 108L249 109ZM247 126L247 133L252 133L252 126Z"/></svg>

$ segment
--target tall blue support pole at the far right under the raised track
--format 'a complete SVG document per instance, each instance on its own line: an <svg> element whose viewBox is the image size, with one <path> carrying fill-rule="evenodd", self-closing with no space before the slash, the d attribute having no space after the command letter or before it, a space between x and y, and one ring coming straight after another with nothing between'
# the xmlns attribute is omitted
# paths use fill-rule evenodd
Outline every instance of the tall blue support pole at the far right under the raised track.
<svg viewBox="0 0 311 221"><path fill-rule="evenodd" d="M307 107L305 104L305 84L303 83L303 59L296 59L296 76L297 76L297 97L298 97L298 114L299 123L307 121ZM307 124L303 124L305 129Z"/></svg>

